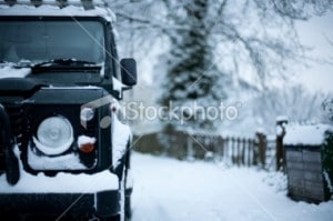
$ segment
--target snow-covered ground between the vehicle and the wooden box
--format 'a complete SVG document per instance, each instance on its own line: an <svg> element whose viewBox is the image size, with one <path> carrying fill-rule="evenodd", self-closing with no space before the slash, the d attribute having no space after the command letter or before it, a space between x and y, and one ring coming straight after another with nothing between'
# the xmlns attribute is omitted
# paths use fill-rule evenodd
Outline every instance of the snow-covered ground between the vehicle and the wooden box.
<svg viewBox="0 0 333 221"><path fill-rule="evenodd" d="M333 219L333 201L290 200L281 173L140 153L133 154L132 170L133 221Z"/></svg>

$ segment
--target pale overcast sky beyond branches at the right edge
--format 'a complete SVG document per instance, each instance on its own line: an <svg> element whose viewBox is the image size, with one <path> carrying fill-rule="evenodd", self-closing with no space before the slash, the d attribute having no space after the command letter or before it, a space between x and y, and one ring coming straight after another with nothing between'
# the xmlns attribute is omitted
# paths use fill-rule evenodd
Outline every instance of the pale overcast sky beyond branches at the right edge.
<svg viewBox="0 0 333 221"><path fill-rule="evenodd" d="M306 22L299 22L297 29L301 41L313 47L312 56L317 59L327 58L333 63L333 12L324 17L313 18ZM333 64L312 63L310 68L300 69L294 80L302 81L310 90L333 92Z"/></svg>

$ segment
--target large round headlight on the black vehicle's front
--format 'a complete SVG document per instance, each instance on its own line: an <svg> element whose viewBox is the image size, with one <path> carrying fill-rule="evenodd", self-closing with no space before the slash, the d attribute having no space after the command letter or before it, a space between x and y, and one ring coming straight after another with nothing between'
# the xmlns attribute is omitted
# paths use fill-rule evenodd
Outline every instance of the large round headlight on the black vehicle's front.
<svg viewBox="0 0 333 221"><path fill-rule="evenodd" d="M63 117L43 120L37 130L36 147L46 154L56 155L67 151L73 142L73 128Z"/></svg>

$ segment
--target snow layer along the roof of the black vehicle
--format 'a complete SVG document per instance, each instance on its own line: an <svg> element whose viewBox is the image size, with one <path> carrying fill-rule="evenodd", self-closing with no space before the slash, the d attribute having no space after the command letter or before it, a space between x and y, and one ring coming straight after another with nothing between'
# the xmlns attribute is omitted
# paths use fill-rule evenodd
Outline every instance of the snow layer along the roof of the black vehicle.
<svg viewBox="0 0 333 221"><path fill-rule="evenodd" d="M74 4L71 4L71 1ZM0 4L1 16L57 16L57 17L102 17L108 21L114 21L115 14L107 6L101 3L95 6L94 9L85 10L80 1L69 1L69 6L59 8L57 3L50 4L49 1L40 7L34 7L28 1L19 1L18 4L12 7L8 4ZM0 3L3 1L0 0Z"/></svg>

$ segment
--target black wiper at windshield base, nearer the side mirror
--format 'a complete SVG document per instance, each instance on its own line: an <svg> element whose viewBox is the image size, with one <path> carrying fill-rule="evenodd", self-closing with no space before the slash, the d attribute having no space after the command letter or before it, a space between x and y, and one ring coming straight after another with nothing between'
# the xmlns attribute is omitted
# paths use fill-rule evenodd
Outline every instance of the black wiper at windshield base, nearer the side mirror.
<svg viewBox="0 0 333 221"><path fill-rule="evenodd" d="M92 61L83 61L77 59L54 59L43 61L31 67L32 73L39 73L47 70L100 70L101 66Z"/></svg>

